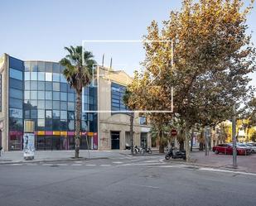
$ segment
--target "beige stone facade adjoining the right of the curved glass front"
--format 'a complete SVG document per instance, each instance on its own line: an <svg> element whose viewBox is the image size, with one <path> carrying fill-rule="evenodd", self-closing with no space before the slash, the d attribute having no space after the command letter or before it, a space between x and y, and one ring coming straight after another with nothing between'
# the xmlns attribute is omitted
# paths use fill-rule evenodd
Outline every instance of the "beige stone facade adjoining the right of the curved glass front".
<svg viewBox="0 0 256 206"><path fill-rule="evenodd" d="M111 150L111 132L119 132L119 148L125 149L126 132L130 130L130 117L124 113L111 113L111 83L127 86L132 79L123 71L109 71L98 68L98 141L99 150ZM105 111L105 112L104 112ZM151 146L151 138L148 134L149 126L139 124L138 113L135 113L133 127L134 145L140 146L141 132L147 132L147 146Z"/></svg>

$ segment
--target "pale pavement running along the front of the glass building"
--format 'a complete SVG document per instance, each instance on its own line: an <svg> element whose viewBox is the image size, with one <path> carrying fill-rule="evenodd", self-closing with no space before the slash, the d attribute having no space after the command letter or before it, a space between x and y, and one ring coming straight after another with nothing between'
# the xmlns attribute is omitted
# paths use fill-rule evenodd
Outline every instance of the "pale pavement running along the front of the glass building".
<svg viewBox="0 0 256 206"><path fill-rule="evenodd" d="M80 151L80 157L85 159L104 159L112 157L128 156L130 151ZM36 151L34 160L24 160L22 151L6 151L0 156L1 164L22 163L22 162L46 162L75 160L75 151Z"/></svg>

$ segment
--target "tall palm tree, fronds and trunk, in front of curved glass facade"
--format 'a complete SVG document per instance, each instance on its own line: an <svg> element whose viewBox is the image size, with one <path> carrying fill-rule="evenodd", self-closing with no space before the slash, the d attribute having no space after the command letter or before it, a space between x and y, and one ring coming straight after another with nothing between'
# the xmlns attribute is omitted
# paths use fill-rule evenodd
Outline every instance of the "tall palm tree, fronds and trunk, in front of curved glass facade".
<svg viewBox="0 0 256 206"><path fill-rule="evenodd" d="M63 74L70 88L75 89L75 158L79 158L80 152L80 129L82 110L82 89L89 85L92 77L92 70L96 61L94 55L89 51L84 51L82 46L65 47L69 52L65 58L60 60L60 65L65 66Z"/></svg>

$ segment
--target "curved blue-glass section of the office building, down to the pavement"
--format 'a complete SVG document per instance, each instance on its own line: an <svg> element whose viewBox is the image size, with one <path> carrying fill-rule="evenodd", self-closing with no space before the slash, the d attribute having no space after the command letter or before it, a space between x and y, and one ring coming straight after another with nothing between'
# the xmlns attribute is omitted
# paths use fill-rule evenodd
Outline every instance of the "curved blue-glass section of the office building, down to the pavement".
<svg viewBox="0 0 256 206"><path fill-rule="evenodd" d="M22 61L8 56L8 149L22 150L24 119L35 122L36 150L75 147L75 91L56 62ZM84 111L97 110L97 90L83 92ZM82 113L81 149L97 149L97 114Z"/></svg>

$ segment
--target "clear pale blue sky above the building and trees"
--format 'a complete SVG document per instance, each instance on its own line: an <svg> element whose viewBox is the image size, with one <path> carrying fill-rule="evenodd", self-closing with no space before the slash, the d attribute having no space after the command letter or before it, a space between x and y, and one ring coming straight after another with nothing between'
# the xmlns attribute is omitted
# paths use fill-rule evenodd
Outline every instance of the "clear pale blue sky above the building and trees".
<svg viewBox="0 0 256 206"><path fill-rule="evenodd" d="M245 0L249 2L249 0ZM64 46L80 46L93 51L99 64L124 69L133 74L143 60L142 45L124 42L142 40L152 20L167 20L178 11L181 0L1 0L0 55L21 60L59 61ZM256 31L256 10L249 15L249 31ZM256 45L256 36L253 33ZM252 74L256 86L256 74Z"/></svg>

